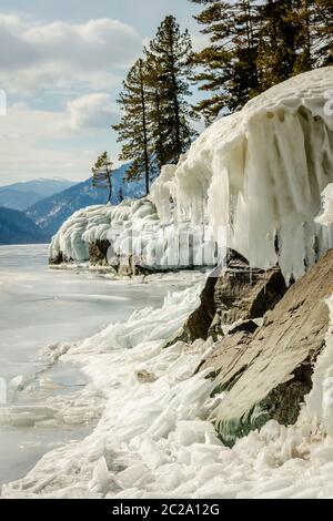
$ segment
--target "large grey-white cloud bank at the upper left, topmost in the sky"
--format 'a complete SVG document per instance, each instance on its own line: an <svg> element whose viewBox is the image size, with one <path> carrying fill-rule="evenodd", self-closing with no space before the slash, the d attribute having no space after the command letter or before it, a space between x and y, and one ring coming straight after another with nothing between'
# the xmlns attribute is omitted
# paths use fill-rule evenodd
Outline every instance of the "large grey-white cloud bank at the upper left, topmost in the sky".
<svg viewBox="0 0 333 521"><path fill-rule="evenodd" d="M128 68L141 51L135 30L111 18L72 24L27 22L0 13L0 86L32 93L83 83L114 84L115 69Z"/></svg>

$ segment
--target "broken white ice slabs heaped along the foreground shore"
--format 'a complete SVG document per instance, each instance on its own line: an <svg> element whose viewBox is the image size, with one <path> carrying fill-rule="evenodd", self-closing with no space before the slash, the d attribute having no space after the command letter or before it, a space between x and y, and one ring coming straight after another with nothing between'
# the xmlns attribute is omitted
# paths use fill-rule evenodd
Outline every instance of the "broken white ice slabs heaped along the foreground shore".
<svg viewBox="0 0 333 521"><path fill-rule="evenodd" d="M170 295L161 309L70 347L63 359L80 364L90 384L53 406L84 417L98 392L101 419L84 440L4 486L4 498L333 498L333 408L323 385L331 381L332 328L296 425L269 421L230 449L208 420L223 395L212 398L214 381L196 372L211 341L163 349L198 296L198 287ZM332 297L327 305L333 314ZM140 371L154 379L142 381Z"/></svg>

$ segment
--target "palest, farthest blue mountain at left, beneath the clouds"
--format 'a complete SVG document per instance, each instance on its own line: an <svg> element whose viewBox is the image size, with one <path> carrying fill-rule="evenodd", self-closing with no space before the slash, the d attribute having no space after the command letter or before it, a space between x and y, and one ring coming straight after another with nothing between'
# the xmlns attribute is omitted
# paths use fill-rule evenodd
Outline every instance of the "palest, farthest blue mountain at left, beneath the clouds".
<svg viewBox="0 0 333 521"><path fill-rule="evenodd" d="M73 181L62 178L34 180L0 186L0 206L24 211L46 197L73 186Z"/></svg>

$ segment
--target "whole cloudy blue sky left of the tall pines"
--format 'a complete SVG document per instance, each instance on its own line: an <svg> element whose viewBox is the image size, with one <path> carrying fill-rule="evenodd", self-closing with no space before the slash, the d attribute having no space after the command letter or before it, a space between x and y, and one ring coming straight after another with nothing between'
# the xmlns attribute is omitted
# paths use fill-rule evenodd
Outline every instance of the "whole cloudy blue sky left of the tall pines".
<svg viewBox="0 0 333 521"><path fill-rule="evenodd" d="M121 81L167 14L202 48L195 12L188 0L1 0L0 185L80 181L102 151L117 160Z"/></svg>

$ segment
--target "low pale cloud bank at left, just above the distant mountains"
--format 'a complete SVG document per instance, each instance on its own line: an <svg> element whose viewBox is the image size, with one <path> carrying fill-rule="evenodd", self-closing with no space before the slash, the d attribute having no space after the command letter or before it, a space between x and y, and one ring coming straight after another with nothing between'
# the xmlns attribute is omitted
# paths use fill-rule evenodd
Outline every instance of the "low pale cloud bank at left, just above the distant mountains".
<svg viewBox="0 0 333 521"><path fill-rule="evenodd" d="M36 177L88 178L100 150L92 146L83 153L81 145L68 142L67 119L65 112L9 106L0 118L0 185Z"/></svg>

